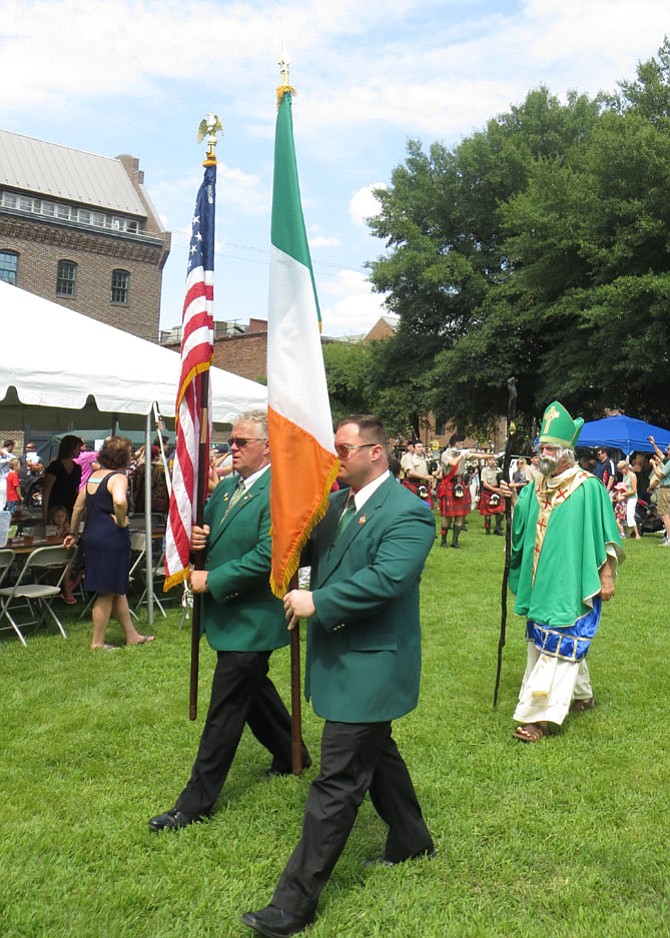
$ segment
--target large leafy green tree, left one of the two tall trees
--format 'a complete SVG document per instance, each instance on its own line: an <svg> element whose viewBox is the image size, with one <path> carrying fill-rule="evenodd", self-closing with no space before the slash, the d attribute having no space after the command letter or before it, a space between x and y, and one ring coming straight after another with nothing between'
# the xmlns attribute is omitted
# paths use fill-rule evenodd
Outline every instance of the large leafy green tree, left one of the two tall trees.
<svg viewBox="0 0 670 938"><path fill-rule="evenodd" d="M408 419L413 409L433 410L484 427L501 412L510 368L522 371L529 354L523 322L512 316L529 297L510 286L516 267L503 207L537 165L582 145L600 106L576 95L561 105L540 88L453 151L433 144L426 154L411 141L391 187L377 193L381 212L370 225L388 253L370 265L371 279L400 316L377 377L380 393L405 401ZM394 362L401 367L388 367Z"/></svg>

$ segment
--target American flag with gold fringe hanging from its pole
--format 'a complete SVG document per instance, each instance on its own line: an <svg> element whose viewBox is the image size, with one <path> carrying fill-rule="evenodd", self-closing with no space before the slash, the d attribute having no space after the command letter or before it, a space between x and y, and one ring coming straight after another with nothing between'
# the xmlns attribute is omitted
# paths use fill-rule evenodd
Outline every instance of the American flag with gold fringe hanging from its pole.
<svg viewBox="0 0 670 938"><path fill-rule="evenodd" d="M165 537L166 590L186 579L191 529L197 505L200 443L209 458L211 418L209 400L203 401L202 373L212 364L214 349L214 204L216 164L206 165L195 201L182 313L181 374L177 392L177 446L172 473L170 513ZM207 418L201 426L201 410Z"/></svg>

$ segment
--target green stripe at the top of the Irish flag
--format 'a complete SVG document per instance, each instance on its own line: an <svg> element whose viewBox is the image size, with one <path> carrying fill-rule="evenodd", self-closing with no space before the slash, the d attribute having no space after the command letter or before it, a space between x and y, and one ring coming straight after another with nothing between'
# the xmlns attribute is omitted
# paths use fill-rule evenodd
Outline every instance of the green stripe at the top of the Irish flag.
<svg viewBox="0 0 670 938"><path fill-rule="evenodd" d="M290 91L283 94L277 113L271 240L276 248L288 254L309 270L314 289L314 302L316 303L319 322L321 322L319 300L316 295L314 272L312 271L312 261L305 231L305 219L300 202L298 167L293 143L293 114Z"/></svg>

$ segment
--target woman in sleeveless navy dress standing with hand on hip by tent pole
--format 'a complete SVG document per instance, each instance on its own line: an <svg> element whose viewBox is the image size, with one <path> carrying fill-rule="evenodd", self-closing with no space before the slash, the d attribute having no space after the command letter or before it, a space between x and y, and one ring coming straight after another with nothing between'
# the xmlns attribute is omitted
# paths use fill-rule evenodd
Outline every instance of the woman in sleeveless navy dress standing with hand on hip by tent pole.
<svg viewBox="0 0 670 938"><path fill-rule="evenodd" d="M77 439L76 437L74 439ZM131 442L122 436L109 437L98 453L100 468L77 496L72 512L71 533L63 543L75 545L79 527L86 519L84 546L84 587L95 593L93 602L93 650L112 650L105 642L112 616L123 629L126 645L144 645L153 635L141 635L128 608L128 573L130 570L130 531L128 528L128 479ZM79 468L79 467L77 467Z"/></svg>

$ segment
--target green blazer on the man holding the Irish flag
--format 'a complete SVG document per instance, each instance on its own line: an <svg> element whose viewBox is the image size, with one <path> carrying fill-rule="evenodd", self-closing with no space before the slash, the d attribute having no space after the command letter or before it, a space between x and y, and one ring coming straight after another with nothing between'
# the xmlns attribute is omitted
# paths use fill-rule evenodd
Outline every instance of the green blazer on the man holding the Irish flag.
<svg viewBox="0 0 670 938"><path fill-rule="evenodd" d="M419 696L419 581L435 519L390 477L331 547L347 495L331 496L313 538L305 692L327 720L394 720Z"/></svg>

